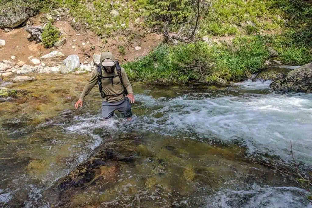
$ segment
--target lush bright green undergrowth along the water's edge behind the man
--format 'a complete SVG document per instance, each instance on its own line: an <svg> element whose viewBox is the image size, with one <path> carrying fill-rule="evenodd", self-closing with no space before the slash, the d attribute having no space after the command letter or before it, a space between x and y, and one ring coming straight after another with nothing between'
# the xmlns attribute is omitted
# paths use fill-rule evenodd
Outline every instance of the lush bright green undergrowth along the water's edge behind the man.
<svg viewBox="0 0 312 208"><path fill-rule="evenodd" d="M265 68L270 58L267 46L279 52L276 60L284 64L303 65L312 61L312 51L287 36L243 36L225 44L205 42L162 45L148 56L124 66L130 79L159 83L205 82L217 84L245 80Z"/></svg>

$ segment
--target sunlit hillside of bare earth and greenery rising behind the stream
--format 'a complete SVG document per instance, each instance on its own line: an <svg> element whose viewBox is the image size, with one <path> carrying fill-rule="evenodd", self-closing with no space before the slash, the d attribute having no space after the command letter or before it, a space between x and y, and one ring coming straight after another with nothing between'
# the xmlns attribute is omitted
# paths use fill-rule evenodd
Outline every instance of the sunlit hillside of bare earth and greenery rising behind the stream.
<svg viewBox="0 0 312 208"><path fill-rule="evenodd" d="M198 27L184 42L174 36L185 37L193 30L196 1L2 0L0 19L26 10L24 19L29 17L32 25L52 22L61 31L67 39L61 49L66 56L77 54L90 62L94 53L110 50L134 80L216 84L244 80L271 64L312 61L310 1L198 2ZM0 27L3 25L0 22ZM157 47L166 32L168 42ZM0 36L6 39L0 59L14 55L28 61L28 56L57 50L28 42L23 27L7 33L2 30ZM150 53L154 48L157 50ZM139 57L144 58L135 60Z"/></svg>

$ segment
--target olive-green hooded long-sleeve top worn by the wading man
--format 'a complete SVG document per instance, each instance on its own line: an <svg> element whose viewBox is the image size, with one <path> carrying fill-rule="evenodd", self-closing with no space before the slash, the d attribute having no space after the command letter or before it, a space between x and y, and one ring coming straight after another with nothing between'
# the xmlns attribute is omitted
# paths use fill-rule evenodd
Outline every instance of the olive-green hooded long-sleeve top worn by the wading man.
<svg viewBox="0 0 312 208"><path fill-rule="evenodd" d="M105 70L104 67L102 65L103 60L105 59L110 59L112 61L115 62L115 69L114 69L114 73L110 73L108 74ZM121 84L121 80L119 79L119 76L117 74L116 71L116 60L115 57L112 53L110 52L105 52L101 54L101 59L100 59L100 65L101 65L101 69L102 69L102 76L103 77L109 77L109 76L113 76L113 75L117 75L114 79L113 79L113 83L111 82L110 79L102 79L102 88L103 88L103 92L106 95L114 95L114 94L120 94L124 91L124 87L128 90L128 93L133 93L132 91L132 86L129 82L128 76L126 71L124 70L124 68L121 67L121 76L122 76L122 80L124 83L124 87ZM97 74L97 69L95 69L92 72L92 76L91 79L88 81L88 83L85 85L85 88L83 89L81 95L80 95L80 100L83 100L85 98L85 96L87 94L89 94L89 92L91 91L91 89L97 85L97 81L98 81L98 74ZM118 102L122 99L124 99L124 95L121 94L118 97L110 97L107 96L107 101L112 103L112 102ZM106 100L105 98L105 100Z"/></svg>

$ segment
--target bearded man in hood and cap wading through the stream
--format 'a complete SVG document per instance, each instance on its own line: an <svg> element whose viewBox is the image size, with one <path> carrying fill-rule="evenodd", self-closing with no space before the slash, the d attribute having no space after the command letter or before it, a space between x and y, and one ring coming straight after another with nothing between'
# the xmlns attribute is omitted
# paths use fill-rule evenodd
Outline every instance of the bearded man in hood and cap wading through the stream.
<svg viewBox="0 0 312 208"><path fill-rule="evenodd" d="M82 107L83 99L96 84L99 85L101 96L104 98L102 103L103 118L112 118L114 111L118 110L125 119L130 121L132 117L131 104L134 103L132 86L126 71L119 66L118 61L110 52L101 54L100 65L92 72L92 77L85 85L79 100L75 104L75 109L79 105Z"/></svg>

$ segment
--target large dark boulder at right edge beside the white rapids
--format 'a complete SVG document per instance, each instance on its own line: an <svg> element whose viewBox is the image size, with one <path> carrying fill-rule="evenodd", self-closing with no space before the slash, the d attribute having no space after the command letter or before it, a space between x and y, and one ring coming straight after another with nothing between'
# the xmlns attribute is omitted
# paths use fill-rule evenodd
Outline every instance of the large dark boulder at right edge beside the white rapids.
<svg viewBox="0 0 312 208"><path fill-rule="evenodd" d="M292 70L280 80L271 83L271 89L312 93L312 62Z"/></svg>

